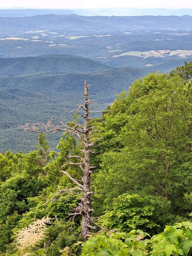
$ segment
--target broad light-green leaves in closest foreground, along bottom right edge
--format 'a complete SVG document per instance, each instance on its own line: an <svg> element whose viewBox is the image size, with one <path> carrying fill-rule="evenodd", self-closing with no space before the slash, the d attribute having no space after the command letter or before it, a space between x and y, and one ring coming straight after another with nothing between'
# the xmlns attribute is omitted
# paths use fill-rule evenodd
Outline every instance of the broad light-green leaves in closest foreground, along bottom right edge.
<svg viewBox="0 0 192 256"><path fill-rule="evenodd" d="M192 223L182 222L167 226L153 237L142 230L119 233L113 230L99 234L82 244L82 256L97 255L189 255L192 248Z"/></svg>

